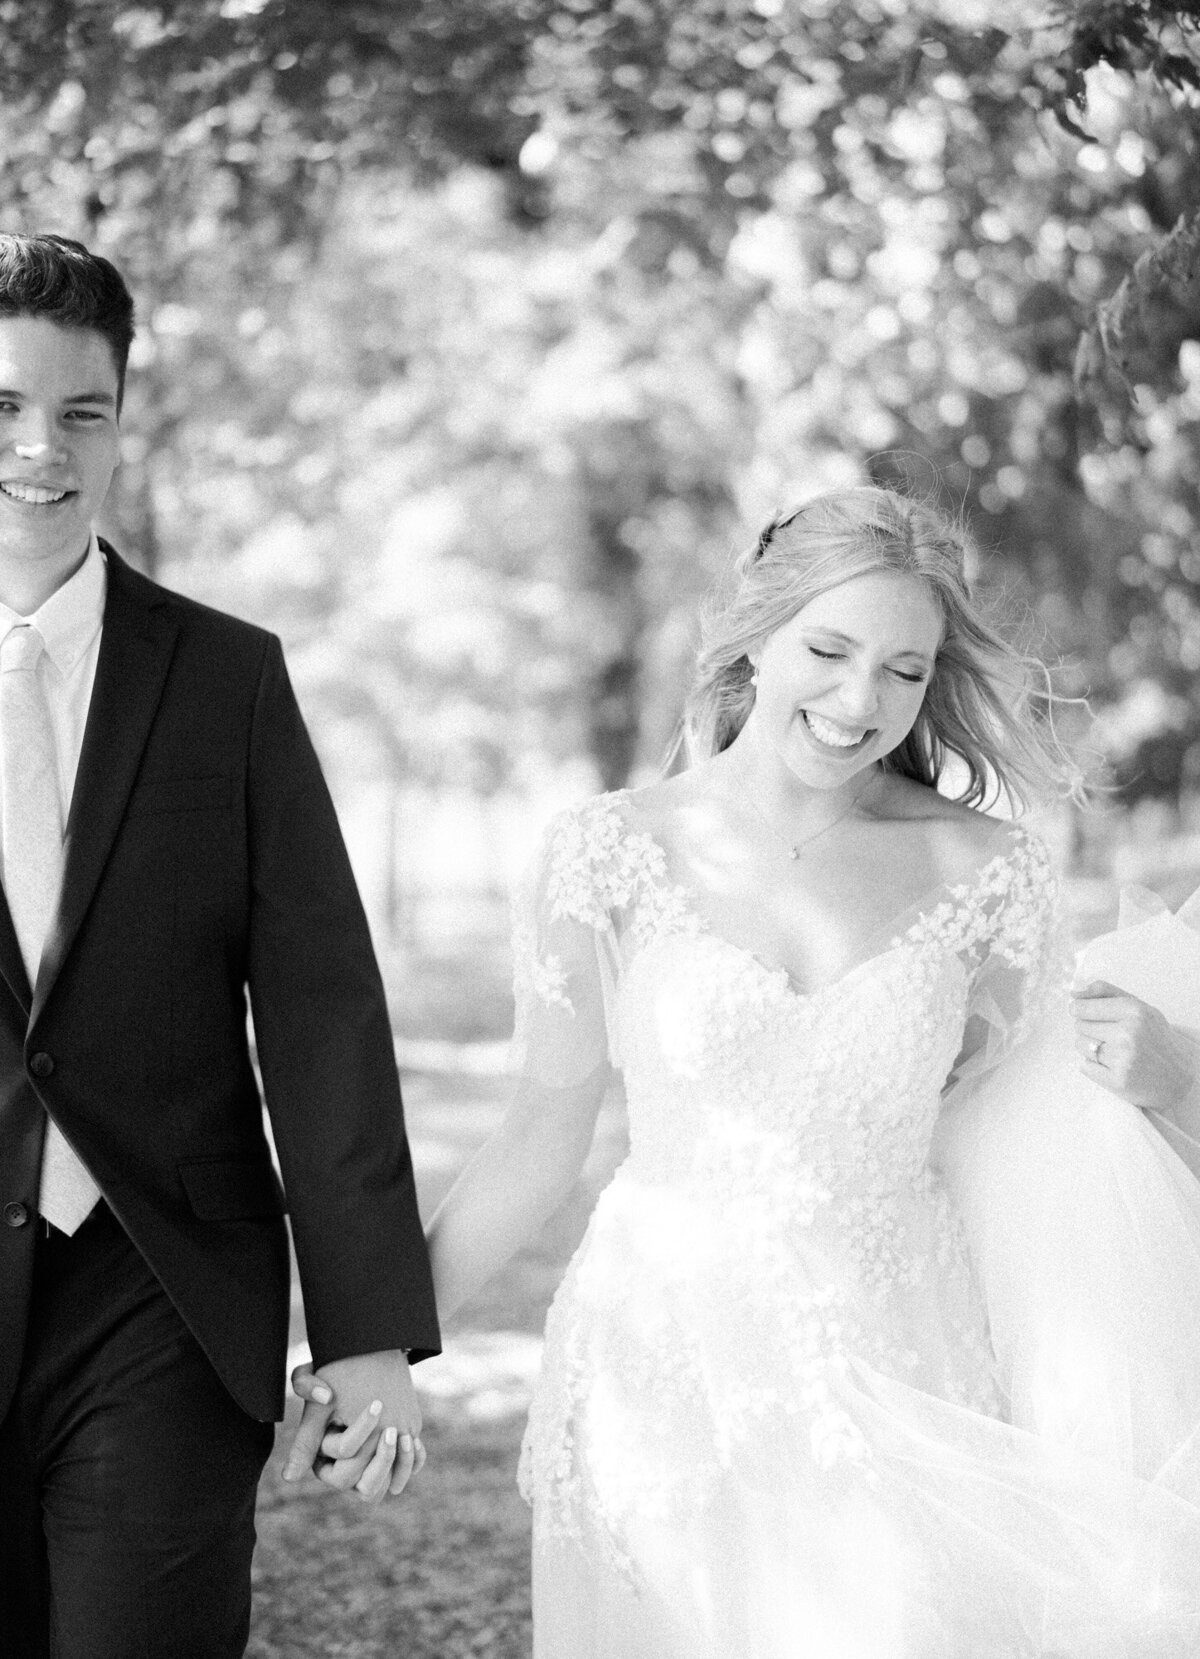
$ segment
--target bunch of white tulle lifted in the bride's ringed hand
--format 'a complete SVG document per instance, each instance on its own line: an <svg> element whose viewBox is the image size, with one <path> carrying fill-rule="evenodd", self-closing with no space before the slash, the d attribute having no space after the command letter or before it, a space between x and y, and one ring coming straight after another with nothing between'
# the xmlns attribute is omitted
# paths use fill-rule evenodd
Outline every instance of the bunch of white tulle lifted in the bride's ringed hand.
<svg viewBox="0 0 1200 1659"><path fill-rule="evenodd" d="M1144 912L1094 941L1077 979L1200 1029L1200 936L1185 914ZM1059 994L948 1107L934 1156L1011 1420L1200 1503L1200 1146L1079 1070Z"/></svg>

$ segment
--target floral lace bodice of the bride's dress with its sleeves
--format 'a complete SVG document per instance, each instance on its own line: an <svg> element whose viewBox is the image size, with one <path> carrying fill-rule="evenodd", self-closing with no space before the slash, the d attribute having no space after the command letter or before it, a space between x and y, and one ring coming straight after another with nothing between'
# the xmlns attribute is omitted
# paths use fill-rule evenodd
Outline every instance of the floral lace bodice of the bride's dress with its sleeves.
<svg viewBox="0 0 1200 1659"><path fill-rule="evenodd" d="M543 904L551 932L591 929L607 956L604 1017L624 1072L631 1173L707 1186L714 1201L777 1193L782 1208L911 1190L971 1014L976 1050L1011 1040L1031 979L1046 972L1052 886L1041 843L1012 830L968 881L885 927L880 947L833 982L800 992L785 969L705 924L624 793L559 818ZM536 954L534 941L531 929ZM548 1009L573 1010L568 980L581 971L568 972L553 939L526 977Z"/></svg>

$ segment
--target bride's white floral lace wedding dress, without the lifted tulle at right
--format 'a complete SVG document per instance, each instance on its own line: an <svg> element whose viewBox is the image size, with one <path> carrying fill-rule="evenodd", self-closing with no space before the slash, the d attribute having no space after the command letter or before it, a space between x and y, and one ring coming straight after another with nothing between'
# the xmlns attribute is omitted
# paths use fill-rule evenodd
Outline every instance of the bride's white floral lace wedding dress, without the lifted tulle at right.
<svg viewBox="0 0 1200 1659"><path fill-rule="evenodd" d="M1006 1420L931 1163L948 1075L978 1095L1062 972L1044 849L998 848L800 994L705 924L624 793L551 826L516 934L523 1087L569 1110L616 1062L631 1151L529 1415L538 1659L1200 1654L1195 1453L1157 1478ZM943 1148L964 1199L969 1143Z"/></svg>

